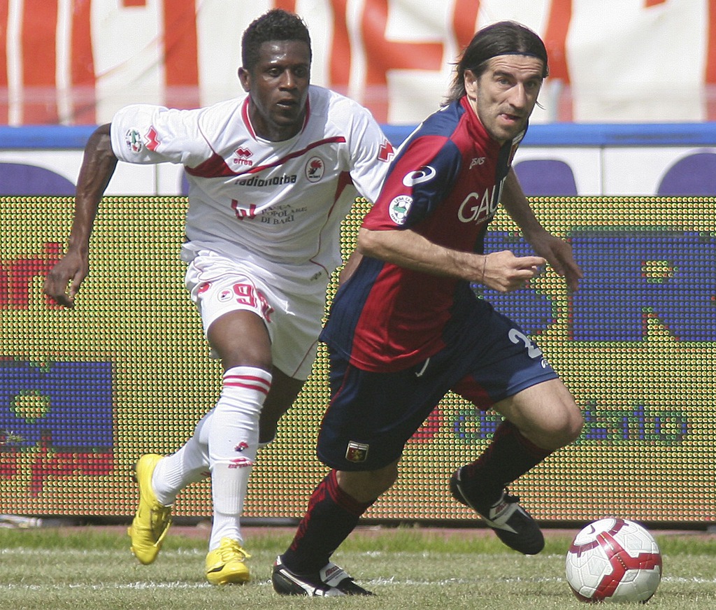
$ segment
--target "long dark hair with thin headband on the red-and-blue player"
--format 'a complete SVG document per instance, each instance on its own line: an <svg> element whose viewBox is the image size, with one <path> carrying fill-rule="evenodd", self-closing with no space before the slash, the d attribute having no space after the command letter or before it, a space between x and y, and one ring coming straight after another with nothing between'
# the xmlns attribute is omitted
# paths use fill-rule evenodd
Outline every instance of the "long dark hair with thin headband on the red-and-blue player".
<svg viewBox="0 0 716 610"><path fill-rule="evenodd" d="M465 70L476 77L487 69L488 59L498 55L530 55L544 64L542 78L549 74L547 49L535 32L516 21L498 21L480 29L455 64L455 78L445 103L455 102L465 95Z"/></svg>

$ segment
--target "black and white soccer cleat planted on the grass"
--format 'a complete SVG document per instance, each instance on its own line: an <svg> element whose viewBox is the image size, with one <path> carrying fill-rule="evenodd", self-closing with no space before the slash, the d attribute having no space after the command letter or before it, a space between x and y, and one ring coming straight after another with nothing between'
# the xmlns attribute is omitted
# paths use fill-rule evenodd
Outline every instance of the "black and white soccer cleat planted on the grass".
<svg viewBox="0 0 716 610"><path fill-rule="evenodd" d="M271 575L274 591L280 595L305 595L309 597L338 597L345 595L372 595L354 583L343 568L335 563L327 563L321 570L312 574L294 574L276 558L274 573Z"/></svg>

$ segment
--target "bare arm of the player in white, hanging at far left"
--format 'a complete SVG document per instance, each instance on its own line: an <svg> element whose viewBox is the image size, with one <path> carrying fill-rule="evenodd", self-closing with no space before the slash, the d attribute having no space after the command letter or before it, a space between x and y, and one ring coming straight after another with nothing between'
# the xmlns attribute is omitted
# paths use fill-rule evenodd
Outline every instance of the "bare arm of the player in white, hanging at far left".
<svg viewBox="0 0 716 610"><path fill-rule="evenodd" d="M84 147L74 197L74 219L67 239L67 252L49 271L44 292L56 303L74 306L79 286L89 275L89 236L102 195L115 172L117 157L112 153L110 125L101 125Z"/></svg>

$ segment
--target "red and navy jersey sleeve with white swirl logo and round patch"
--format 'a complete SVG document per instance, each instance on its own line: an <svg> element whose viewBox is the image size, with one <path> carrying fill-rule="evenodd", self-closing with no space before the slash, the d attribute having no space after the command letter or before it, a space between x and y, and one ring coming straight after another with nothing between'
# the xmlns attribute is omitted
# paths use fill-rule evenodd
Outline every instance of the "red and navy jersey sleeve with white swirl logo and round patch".
<svg viewBox="0 0 716 610"><path fill-rule="evenodd" d="M420 223L448 196L462 163L458 147L448 138L417 135L390 168L363 226L388 231Z"/></svg>

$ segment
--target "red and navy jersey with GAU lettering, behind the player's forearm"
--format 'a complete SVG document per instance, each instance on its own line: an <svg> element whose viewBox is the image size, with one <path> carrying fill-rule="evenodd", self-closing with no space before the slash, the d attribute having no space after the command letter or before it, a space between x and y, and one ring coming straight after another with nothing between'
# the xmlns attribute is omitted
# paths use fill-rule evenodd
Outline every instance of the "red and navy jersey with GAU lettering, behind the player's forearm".
<svg viewBox="0 0 716 610"><path fill-rule="evenodd" d="M443 107L400 147L363 226L410 228L441 246L482 253L523 135L500 145L467 98ZM364 257L339 289L321 339L360 369L402 370L440 351L474 306L467 281Z"/></svg>

